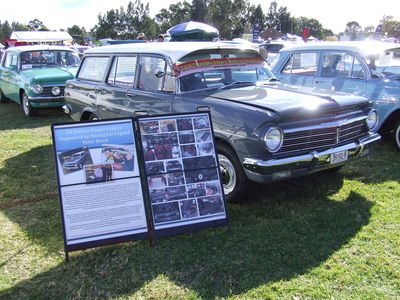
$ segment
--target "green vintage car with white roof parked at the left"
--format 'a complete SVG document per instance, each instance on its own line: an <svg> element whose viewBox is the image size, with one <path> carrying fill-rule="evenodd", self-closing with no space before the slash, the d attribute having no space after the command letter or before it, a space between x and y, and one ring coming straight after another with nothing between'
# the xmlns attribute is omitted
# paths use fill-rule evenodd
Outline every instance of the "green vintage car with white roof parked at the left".
<svg viewBox="0 0 400 300"><path fill-rule="evenodd" d="M21 104L27 117L39 108L64 104L65 81L75 77L79 56L61 46L18 46L5 51L0 65L0 103Z"/></svg>

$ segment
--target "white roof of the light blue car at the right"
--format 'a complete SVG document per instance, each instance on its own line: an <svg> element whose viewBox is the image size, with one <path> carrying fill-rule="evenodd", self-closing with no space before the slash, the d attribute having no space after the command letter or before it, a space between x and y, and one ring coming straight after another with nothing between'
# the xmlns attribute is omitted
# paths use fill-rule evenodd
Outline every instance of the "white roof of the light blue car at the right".
<svg viewBox="0 0 400 300"><path fill-rule="evenodd" d="M400 44L379 41L354 41L354 42L312 42L305 44L289 45L280 50L281 53L288 51L304 50L344 50L355 51L367 56L378 54L385 50L400 48Z"/></svg>

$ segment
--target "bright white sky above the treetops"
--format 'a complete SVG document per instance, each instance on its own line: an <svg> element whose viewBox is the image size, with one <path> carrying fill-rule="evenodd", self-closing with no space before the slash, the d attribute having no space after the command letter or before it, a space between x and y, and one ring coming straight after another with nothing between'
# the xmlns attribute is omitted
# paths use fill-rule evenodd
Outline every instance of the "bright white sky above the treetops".
<svg viewBox="0 0 400 300"><path fill-rule="evenodd" d="M191 2L191 0L187 0ZM134 2L134 0L132 0ZM175 0L142 0L149 3L150 16L154 17L162 8L168 9ZM317 19L325 29L334 33L343 32L346 24L356 21L361 27L376 27L384 15L400 21L399 0L276 0L278 7L287 7L291 16ZM129 0L3 0L0 6L0 21L16 21L28 24L38 19L50 30L67 29L73 25L85 27L87 31L97 24L98 15L111 9L126 8ZM250 0L260 4L268 12L271 1ZM373 3L373 4L370 4Z"/></svg>

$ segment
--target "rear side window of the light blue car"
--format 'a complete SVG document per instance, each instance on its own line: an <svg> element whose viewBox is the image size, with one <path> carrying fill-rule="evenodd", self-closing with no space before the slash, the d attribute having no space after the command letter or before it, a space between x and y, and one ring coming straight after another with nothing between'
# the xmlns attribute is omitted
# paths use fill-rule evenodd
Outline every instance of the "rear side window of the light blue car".
<svg viewBox="0 0 400 300"><path fill-rule="evenodd" d="M316 52L295 53L282 70L283 74L314 76L317 71Z"/></svg>

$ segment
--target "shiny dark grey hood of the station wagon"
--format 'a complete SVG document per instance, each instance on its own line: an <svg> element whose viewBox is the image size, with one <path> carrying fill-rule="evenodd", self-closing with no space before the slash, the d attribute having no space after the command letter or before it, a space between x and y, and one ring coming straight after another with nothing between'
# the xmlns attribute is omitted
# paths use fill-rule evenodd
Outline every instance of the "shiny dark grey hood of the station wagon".
<svg viewBox="0 0 400 300"><path fill-rule="evenodd" d="M315 111L334 111L346 106L356 105L361 108L369 105L365 97L285 85L221 90L208 96L273 111L281 117L309 116Z"/></svg>

